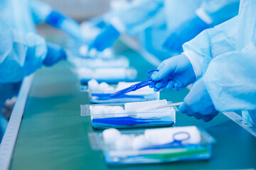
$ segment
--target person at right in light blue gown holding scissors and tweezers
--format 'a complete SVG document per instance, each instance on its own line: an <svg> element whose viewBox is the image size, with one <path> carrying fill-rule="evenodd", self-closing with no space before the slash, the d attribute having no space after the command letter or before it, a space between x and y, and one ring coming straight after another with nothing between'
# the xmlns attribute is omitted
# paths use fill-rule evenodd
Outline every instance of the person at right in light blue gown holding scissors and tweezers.
<svg viewBox="0 0 256 170"><path fill-rule="evenodd" d="M256 123L256 1L242 0L239 15L204 30L183 45L183 54L165 60L154 80L181 89L198 80L180 111L209 121L218 111L242 111ZM159 84L161 85L161 84Z"/></svg>

